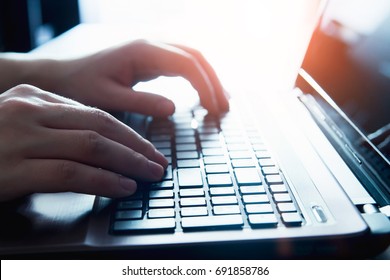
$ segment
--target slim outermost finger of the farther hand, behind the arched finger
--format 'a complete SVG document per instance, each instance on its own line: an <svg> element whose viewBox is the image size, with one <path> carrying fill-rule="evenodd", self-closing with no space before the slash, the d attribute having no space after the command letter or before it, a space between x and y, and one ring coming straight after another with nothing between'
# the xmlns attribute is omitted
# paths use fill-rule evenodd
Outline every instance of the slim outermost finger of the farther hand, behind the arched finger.
<svg viewBox="0 0 390 280"><path fill-rule="evenodd" d="M188 52L193 57L195 57L197 59L197 61L199 61L200 65L203 67L204 71L206 72L207 76L209 77L209 79L213 85L214 92L215 92L218 106L219 106L219 110L221 112L228 111L229 110L229 101L228 101L229 95L225 91L225 89L223 88L220 80L218 79L217 74L215 73L215 70L213 69L213 67L211 67L211 65L204 58L204 56L198 50L192 49L192 48L187 47L187 46L177 45L177 44L174 44L173 46Z"/></svg>

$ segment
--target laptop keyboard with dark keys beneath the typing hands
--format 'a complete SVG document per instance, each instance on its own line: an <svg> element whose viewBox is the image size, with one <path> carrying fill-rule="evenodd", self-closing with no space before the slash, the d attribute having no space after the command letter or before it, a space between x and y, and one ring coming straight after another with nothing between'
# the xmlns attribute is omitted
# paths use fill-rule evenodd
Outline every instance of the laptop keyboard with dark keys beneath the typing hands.
<svg viewBox="0 0 390 280"><path fill-rule="evenodd" d="M169 160L161 182L117 200L112 234L299 227L304 218L248 119L204 109L150 119L147 138Z"/></svg>

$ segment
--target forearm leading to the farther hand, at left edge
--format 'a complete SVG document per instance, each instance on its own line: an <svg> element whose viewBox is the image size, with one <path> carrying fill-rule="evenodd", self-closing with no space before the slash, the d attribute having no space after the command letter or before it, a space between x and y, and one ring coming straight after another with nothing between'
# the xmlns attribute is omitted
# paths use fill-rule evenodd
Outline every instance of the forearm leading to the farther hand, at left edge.
<svg viewBox="0 0 390 280"><path fill-rule="evenodd" d="M19 84L55 91L62 72L58 60L32 59L28 54L0 54L0 93Z"/></svg>

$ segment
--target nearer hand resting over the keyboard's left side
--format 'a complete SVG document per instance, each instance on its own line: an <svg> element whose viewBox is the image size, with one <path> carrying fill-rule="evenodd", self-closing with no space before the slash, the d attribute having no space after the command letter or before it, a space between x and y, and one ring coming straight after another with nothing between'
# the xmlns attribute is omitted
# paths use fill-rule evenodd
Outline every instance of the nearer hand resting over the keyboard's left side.
<svg viewBox="0 0 390 280"><path fill-rule="evenodd" d="M167 160L99 109L33 86L0 95L0 201L34 192L131 195Z"/></svg>

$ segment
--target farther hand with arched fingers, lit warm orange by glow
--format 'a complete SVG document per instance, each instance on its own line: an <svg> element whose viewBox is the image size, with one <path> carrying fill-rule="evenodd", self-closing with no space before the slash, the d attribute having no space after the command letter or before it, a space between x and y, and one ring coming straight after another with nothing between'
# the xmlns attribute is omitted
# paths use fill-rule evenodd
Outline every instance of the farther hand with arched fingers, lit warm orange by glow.
<svg viewBox="0 0 390 280"><path fill-rule="evenodd" d="M196 50L178 45L136 41L61 66L56 93L105 110L168 116L175 107L167 98L137 92L132 86L159 76L182 76L198 91L210 113L225 112L229 104L212 67Z"/></svg>

